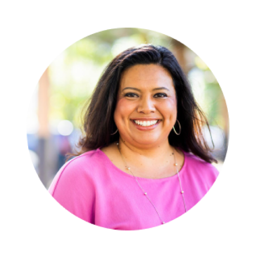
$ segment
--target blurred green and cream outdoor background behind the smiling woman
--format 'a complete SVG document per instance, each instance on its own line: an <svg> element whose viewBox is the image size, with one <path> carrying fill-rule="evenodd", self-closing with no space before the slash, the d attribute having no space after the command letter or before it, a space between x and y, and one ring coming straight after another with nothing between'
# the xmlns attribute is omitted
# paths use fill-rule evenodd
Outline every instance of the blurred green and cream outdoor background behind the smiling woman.
<svg viewBox="0 0 256 256"><path fill-rule="evenodd" d="M26 138L31 162L48 189L80 136L81 108L90 97L106 65L131 46L151 43L168 48L191 82L205 112L214 142L219 172L229 143L229 113L215 74L197 53L178 39L144 28L112 28L83 37L64 49L46 67L31 96ZM213 148L209 131L205 139Z"/></svg>

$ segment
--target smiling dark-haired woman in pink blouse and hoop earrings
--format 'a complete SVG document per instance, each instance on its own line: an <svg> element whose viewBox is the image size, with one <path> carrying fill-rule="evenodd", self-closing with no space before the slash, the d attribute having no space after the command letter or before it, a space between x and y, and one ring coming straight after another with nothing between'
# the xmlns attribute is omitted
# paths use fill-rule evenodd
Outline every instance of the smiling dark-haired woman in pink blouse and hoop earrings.
<svg viewBox="0 0 256 256"><path fill-rule="evenodd" d="M203 124L174 55L161 46L130 48L102 74L85 114L81 151L71 154L77 157L61 167L48 191L98 227L134 231L171 222L219 176Z"/></svg>

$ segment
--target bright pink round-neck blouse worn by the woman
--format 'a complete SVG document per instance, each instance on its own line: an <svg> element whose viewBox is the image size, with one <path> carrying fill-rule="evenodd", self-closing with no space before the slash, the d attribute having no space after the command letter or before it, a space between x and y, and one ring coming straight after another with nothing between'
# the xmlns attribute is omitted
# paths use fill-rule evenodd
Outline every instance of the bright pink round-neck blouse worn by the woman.
<svg viewBox="0 0 256 256"><path fill-rule="evenodd" d="M183 153L184 165L179 176L189 211L211 189L219 171L200 158ZM165 223L185 213L177 174L137 180ZM113 165L99 148L63 165L48 192L73 216L97 227L139 231L163 225L134 177Z"/></svg>

